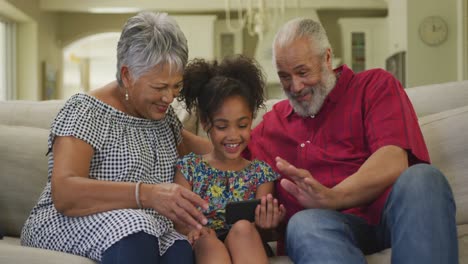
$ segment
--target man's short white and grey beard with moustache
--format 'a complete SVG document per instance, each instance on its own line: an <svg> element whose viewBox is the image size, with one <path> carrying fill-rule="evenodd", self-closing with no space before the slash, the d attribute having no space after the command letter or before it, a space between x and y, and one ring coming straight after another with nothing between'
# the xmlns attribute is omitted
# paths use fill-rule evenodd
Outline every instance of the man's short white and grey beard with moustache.
<svg viewBox="0 0 468 264"><path fill-rule="evenodd" d="M290 104L294 111L300 116L314 116L322 108L323 102L327 95L333 90L336 84L336 76L333 71L329 71L326 66L322 67L322 80L315 86L305 87L300 94L294 94L290 91L285 91ZM301 97L311 93L311 101L297 101L297 97Z"/></svg>

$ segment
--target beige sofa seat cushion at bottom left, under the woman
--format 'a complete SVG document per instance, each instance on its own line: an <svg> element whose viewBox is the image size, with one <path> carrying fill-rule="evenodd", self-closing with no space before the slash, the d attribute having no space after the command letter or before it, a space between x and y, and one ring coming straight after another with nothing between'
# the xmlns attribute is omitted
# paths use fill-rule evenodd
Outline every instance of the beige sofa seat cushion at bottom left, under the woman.
<svg viewBox="0 0 468 264"><path fill-rule="evenodd" d="M18 238L4 237L3 240L0 240L0 263L95 264L96 262L63 252L23 247Z"/></svg>

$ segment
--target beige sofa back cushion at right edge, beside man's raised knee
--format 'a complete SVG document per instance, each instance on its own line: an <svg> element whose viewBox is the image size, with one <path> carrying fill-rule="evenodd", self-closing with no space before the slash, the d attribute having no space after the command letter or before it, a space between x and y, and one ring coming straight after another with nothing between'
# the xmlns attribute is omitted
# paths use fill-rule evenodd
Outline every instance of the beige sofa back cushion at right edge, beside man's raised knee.
<svg viewBox="0 0 468 264"><path fill-rule="evenodd" d="M447 177L457 205L457 224L468 224L468 106L420 118L432 164Z"/></svg>

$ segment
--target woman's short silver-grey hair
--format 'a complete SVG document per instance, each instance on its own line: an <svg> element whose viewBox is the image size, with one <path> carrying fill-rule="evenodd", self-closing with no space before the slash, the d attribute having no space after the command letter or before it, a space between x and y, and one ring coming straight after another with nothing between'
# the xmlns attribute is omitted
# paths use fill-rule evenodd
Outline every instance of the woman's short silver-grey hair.
<svg viewBox="0 0 468 264"><path fill-rule="evenodd" d="M188 60L187 39L177 22L166 13L141 12L125 23L117 44L117 81L126 65L137 80L156 65L183 72Z"/></svg>

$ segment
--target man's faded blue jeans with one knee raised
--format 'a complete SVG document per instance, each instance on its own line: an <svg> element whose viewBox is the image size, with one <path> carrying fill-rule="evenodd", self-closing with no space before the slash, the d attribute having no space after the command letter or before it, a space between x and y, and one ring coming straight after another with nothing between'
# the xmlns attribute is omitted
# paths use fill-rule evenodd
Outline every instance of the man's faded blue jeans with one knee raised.
<svg viewBox="0 0 468 264"><path fill-rule="evenodd" d="M392 248L392 263L458 263L455 202L444 175L411 166L395 182L378 226L333 210L295 214L286 231L294 263L366 263L364 255Z"/></svg>

